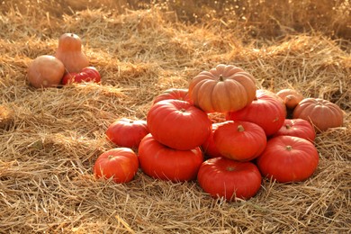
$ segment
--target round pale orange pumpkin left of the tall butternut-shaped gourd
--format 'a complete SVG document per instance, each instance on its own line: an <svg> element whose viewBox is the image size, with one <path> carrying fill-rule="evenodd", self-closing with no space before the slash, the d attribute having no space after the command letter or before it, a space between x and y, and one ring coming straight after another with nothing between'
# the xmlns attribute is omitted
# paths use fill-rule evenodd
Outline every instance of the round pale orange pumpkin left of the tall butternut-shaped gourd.
<svg viewBox="0 0 351 234"><path fill-rule="evenodd" d="M40 55L29 64L27 79L33 87L46 88L59 85L64 74L65 66L58 58Z"/></svg>

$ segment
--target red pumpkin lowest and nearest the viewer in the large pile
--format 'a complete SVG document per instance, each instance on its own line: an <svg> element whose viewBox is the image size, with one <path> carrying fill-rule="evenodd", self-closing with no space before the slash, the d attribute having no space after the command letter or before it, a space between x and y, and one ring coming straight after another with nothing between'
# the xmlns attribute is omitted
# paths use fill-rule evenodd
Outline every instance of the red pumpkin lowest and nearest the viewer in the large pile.
<svg viewBox="0 0 351 234"><path fill-rule="evenodd" d="M262 176L251 162L238 162L226 157L207 159L200 166L197 180L203 191L213 198L229 202L247 200L257 194Z"/></svg>

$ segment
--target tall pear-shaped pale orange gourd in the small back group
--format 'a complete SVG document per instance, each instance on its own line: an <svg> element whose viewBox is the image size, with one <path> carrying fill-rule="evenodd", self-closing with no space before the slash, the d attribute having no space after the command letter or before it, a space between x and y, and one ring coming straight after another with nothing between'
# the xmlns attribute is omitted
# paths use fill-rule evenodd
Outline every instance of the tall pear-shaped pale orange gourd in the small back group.
<svg viewBox="0 0 351 234"><path fill-rule="evenodd" d="M62 61L68 73L78 73L89 66L89 60L82 51L82 40L74 33L64 33L59 37L55 57Z"/></svg>

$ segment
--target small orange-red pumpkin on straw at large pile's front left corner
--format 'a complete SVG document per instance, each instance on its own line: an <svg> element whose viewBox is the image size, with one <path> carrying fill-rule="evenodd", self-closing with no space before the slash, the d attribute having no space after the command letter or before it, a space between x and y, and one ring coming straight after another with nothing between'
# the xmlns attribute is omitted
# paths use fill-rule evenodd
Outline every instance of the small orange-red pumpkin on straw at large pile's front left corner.
<svg viewBox="0 0 351 234"><path fill-rule="evenodd" d="M112 148L97 157L93 171L97 178L112 178L115 183L130 182L138 172L138 156L130 148Z"/></svg>

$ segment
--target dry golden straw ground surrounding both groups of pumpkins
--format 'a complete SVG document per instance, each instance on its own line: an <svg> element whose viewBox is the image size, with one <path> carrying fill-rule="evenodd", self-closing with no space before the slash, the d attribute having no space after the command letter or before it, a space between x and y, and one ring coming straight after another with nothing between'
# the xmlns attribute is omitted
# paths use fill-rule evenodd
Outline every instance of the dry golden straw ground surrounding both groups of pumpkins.
<svg viewBox="0 0 351 234"><path fill-rule="evenodd" d="M350 2L208 2L1 1L0 232L350 233ZM54 54L64 32L82 38L102 85L27 84L28 63ZM343 127L318 135L311 179L264 180L231 203L141 172L129 184L94 179L112 121L145 118L157 94L219 63L345 111Z"/></svg>

